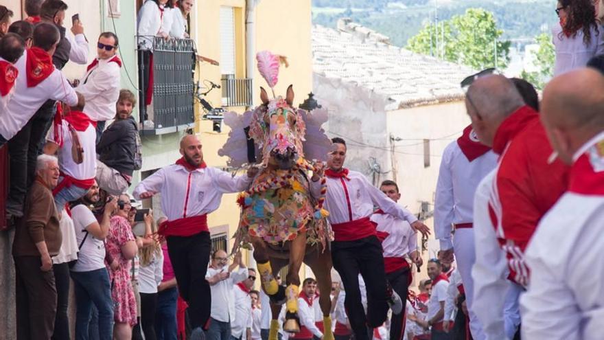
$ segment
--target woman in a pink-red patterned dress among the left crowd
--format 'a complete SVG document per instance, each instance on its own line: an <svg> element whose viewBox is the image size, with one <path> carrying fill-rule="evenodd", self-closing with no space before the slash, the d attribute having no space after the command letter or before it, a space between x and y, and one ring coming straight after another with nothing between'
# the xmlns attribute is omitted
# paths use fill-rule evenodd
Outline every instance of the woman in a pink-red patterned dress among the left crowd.
<svg viewBox="0 0 604 340"><path fill-rule="evenodd" d="M138 247L128 222L128 212L130 212L130 197L121 194L107 236L107 251L115 261L119 262L119 267L111 271L111 297L115 321L113 337L117 340L130 340L132 326L137 323L137 302L132 290L130 269L131 260L137 255Z"/></svg>

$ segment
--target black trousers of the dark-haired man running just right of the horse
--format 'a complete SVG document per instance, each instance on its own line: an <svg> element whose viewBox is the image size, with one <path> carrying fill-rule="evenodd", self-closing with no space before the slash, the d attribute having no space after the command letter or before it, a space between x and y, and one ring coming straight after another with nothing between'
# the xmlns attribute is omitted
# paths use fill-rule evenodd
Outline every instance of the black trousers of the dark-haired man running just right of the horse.
<svg viewBox="0 0 604 340"><path fill-rule="evenodd" d="M344 306L355 339L369 340L369 329L382 326L388 313L382 244L375 236L355 241L334 241L332 260L346 290ZM367 315L361 303L359 273L367 288Z"/></svg>

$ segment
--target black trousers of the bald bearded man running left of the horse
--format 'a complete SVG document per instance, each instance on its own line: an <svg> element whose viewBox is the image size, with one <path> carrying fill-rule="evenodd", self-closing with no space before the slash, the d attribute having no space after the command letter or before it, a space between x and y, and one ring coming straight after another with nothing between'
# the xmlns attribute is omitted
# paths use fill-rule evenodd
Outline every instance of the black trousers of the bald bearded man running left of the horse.
<svg viewBox="0 0 604 340"><path fill-rule="evenodd" d="M178 282L178 293L189 304L191 328L207 330L212 302L210 285L205 280L212 247L210 233L203 231L192 236L167 236L166 241Z"/></svg>

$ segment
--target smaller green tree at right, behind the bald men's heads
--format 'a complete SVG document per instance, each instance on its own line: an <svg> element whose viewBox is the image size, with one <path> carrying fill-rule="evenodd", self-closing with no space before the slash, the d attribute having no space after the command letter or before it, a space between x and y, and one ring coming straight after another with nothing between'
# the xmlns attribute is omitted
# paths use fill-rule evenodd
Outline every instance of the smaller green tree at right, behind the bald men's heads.
<svg viewBox="0 0 604 340"><path fill-rule="evenodd" d="M539 71L522 71L520 75L527 82L531 82L537 89L543 89L546 82L552 78L554 74L554 63L556 61L556 52L552 43L552 36L548 33L539 34L535 37L535 41L539 44L537 51L532 51L535 58L535 67Z"/></svg>

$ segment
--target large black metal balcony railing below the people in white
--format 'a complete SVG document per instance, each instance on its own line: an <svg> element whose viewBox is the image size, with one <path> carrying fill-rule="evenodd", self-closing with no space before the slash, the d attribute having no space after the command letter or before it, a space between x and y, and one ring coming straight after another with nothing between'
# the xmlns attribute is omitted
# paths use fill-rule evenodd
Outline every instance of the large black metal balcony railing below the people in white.
<svg viewBox="0 0 604 340"><path fill-rule="evenodd" d="M141 41L143 43L141 44ZM143 49L141 45L152 45L151 49ZM195 49L191 39L165 40L161 37L139 37L139 55L141 52L152 53L153 95L152 104L145 106L146 91L140 91L141 122L143 133L161 134L178 130L178 127L188 127L195 122L194 114L194 69ZM141 89L146 89L148 78L144 77L141 63L139 82ZM151 131L148 131L151 130Z"/></svg>

